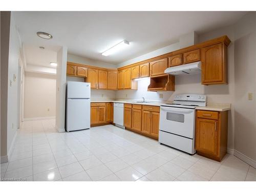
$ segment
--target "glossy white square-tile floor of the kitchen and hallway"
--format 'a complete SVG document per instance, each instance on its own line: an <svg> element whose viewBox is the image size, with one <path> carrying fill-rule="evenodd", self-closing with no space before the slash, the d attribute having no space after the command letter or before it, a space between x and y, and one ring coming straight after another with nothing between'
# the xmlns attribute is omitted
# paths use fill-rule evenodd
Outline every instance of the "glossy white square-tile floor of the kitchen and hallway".
<svg viewBox="0 0 256 192"><path fill-rule="evenodd" d="M1 178L27 181L256 181L232 155L190 156L113 125L57 133L54 119L25 121Z"/></svg>

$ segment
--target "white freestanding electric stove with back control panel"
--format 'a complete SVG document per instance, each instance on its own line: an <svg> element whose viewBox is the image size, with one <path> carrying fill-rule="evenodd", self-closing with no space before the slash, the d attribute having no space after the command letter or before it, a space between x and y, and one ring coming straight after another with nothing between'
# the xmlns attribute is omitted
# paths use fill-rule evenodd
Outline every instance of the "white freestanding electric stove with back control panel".
<svg viewBox="0 0 256 192"><path fill-rule="evenodd" d="M206 95L179 94L172 104L161 104L159 142L195 154L195 109L206 103Z"/></svg>

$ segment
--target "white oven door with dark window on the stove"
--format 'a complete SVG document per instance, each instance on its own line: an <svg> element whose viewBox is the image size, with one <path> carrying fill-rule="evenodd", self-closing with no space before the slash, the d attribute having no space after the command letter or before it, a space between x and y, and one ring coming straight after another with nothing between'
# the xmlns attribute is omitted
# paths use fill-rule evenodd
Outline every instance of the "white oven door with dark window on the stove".
<svg viewBox="0 0 256 192"><path fill-rule="evenodd" d="M195 136L195 109L160 107L159 129L190 139Z"/></svg>

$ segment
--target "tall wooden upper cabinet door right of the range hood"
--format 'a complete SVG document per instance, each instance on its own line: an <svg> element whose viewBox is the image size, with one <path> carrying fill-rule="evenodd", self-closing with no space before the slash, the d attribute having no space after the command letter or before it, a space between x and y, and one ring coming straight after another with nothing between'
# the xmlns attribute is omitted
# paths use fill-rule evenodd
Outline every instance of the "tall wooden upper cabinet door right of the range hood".
<svg viewBox="0 0 256 192"><path fill-rule="evenodd" d="M223 81L224 62L222 60L222 44L201 49L202 84Z"/></svg>

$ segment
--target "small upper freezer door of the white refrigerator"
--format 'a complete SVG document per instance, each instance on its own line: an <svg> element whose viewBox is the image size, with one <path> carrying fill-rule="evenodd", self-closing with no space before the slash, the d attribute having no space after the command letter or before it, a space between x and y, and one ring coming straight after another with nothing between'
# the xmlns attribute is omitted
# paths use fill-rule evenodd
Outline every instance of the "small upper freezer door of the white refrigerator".
<svg viewBox="0 0 256 192"><path fill-rule="evenodd" d="M68 81L67 98L91 98L91 83Z"/></svg>

